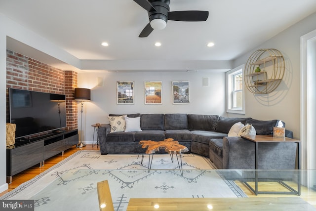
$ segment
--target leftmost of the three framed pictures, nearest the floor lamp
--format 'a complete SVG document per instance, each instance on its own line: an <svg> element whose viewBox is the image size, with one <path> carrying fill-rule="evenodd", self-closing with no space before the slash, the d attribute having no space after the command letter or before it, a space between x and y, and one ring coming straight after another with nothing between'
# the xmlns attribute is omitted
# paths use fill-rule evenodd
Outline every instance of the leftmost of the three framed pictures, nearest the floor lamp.
<svg viewBox="0 0 316 211"><path fill-rule="evenodd" d="M134 104L134 82L117 82L117 104Z"/></svg>

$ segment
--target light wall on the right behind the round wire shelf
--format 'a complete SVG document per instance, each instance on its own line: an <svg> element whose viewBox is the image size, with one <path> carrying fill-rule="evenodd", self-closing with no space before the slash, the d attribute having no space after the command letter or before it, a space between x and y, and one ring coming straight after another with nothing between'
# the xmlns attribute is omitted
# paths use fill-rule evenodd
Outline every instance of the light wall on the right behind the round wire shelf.
<svg viewBox="0 0 316 211"><path fill-rule="evenodd" d="M270 94L246 91L245 116L259 120L280 119L300 138L300 37L316 29L316 13L291 26L274 38L253 48L234 61L234 67L247 61L260 48L276 48L285 59L286 72L281 84Z"/></svg>

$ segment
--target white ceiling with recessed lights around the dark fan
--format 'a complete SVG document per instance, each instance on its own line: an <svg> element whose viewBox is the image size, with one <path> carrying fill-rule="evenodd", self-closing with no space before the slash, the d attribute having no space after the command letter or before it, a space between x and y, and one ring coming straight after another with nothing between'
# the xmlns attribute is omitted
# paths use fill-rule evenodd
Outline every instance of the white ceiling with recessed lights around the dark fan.
<svg viewBox="0 0 316 211"><path fill-rule="evenodd" d="M171 0L170 11L177 10L207 10L209 17L168 21L138 38L148 15L133 0L0 0L0 13L89 64L233 60L314 13L316 0Z"/></svg>

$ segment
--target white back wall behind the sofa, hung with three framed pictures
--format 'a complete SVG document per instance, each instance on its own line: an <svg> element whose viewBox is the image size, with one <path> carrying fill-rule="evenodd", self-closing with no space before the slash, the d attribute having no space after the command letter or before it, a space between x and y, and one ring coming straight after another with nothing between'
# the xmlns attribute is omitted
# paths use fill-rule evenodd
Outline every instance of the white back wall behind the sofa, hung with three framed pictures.
<svg viewBox="0 0 316 211"><path fill-rule="evenodd" d="M104 86L96 86L97 77L104 79ZM209 77L210 85L202 86L202 78ZM225 116L225 73L184 72L184 73L79 73L78 86L91 88L91 101L84 102L83 134L85 143L92 143L95 123L109 123L108 115L132 113L191 113ZM135 104L116 103L116 82L134 81ZM145 105L144 81L162 81L162 104ZM172 81L190 82L190 104L172 104ZM80 103L78 104L80 124ZM85 122L85 124L84 124ZM80 125L79 125L80 129Z"/></svg>

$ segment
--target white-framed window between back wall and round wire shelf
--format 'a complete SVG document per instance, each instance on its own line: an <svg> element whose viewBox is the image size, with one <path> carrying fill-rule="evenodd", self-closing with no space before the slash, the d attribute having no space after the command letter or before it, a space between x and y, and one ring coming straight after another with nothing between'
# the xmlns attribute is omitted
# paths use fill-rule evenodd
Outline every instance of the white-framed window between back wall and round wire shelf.
<svg viewBox="0 0 316 211"><path fill-rule="evenodd" d="M226 73L226 112L228 113L245 114L243 69L244 65L241 65Z"/></svg>

